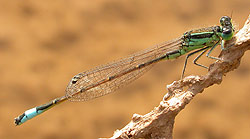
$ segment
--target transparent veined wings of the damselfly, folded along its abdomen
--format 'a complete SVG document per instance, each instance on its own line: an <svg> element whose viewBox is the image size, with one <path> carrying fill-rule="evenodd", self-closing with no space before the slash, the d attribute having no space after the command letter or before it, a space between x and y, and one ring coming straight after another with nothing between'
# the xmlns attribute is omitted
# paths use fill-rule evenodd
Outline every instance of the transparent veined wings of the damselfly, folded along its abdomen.
<svg viewBox="0 0 250 139"><path fill-rule="evenodd" d="M86 101L114 92L142 76L155 63L136 70L131 69L161 57L167 52L180 49L182 42L182 39L178 38L79 73L69 82L66 97L71 101Z"/></svg>

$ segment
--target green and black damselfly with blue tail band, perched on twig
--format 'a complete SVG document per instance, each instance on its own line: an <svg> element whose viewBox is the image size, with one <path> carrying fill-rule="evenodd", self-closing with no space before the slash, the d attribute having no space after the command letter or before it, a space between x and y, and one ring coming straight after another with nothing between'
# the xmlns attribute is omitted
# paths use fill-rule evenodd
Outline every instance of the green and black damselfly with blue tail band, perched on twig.
<svg viewBox="0 0 250 139"><path fill-rule="evenodd" d="M221 44L222 49L224 49L224 41L231 40L233 35L234 27L231 18L223 16L220 19L220 26L191 30L184 33L180 38L79 73L69 82L65 96L25 111L22 115L15 118L15 124L21 125L65 100L87 101L114 92L142 76L159 61L176 59L191 51L186 57L182 77L185 72L187 59L195 53L201 52L194 59L194 64L207 68L198 64L197 60L207 50L209 50L206 54L207 57L220 60L210 56L210 53L218 44Z"/></svg>

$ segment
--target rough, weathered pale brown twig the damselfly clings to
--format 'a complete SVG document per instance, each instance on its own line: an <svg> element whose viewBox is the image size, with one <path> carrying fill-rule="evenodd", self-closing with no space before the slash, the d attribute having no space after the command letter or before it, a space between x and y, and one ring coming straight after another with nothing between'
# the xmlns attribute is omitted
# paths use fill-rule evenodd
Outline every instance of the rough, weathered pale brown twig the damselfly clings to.
<svg viewBox="0 0 250 139"><path fill-rule="evenodd" d="M240 65L241 57L250 49L250 15L244 27L231 41L226 42L226 47L230 46L232 47L222 51L219 56L223 61L211 64L206 75L188 76L174 81L167 86L168 94L158 107L145 115L134 114L131 122L123 129L115 131L111 138L172 138L176 115L196 94L209 86L220 84L226 73Z"/></svg>

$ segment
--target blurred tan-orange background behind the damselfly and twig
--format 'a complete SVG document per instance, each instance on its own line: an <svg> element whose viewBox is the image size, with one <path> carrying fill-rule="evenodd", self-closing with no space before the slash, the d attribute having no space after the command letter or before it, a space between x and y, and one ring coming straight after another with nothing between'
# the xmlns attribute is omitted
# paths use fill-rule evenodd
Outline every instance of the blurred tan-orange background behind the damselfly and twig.
<svg viewBox="0 0 250 139"><path fill-rule="evenodd" d="M1 0L0 138L111 137L133 113L146 114L159 104L166 85L180 78L185 57L157 64L116 93L66 102L19 127L13 121L26 109L64 95L79 72L187 30L219 25L220 17L232 12L241 28L249 8L249 0ZM213 55L219 52L218 47ZM206 89L177 116L174 138L250 138L249 58L246 53L221 85ZM186 75L207 72L191 59Z"/></svg>

